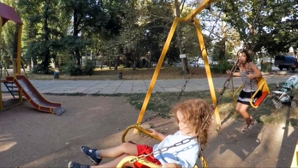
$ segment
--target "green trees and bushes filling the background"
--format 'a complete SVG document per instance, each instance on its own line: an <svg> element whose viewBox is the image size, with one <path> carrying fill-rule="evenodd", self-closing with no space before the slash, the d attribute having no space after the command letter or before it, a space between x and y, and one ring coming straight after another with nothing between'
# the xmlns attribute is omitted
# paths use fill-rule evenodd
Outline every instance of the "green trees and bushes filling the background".
<svg viewBox="0 0 298 168"><path fill-rule="evenodd" d="M0 2L15 8L24 22L22 59L26 64L33 62L32 72L52 73L49 65L53 61L55 67L58 66L70 75L93 73L92 63L89 66L89 61L88 65L75 66L80 65L81 53L85 51L92 51L92 55L98 57L97 61L103 61L105 65L111 62L112 66L123 64L135 68L135 65L142 65L139 63L140 59L149 57L151 63L158 62L175 15L184 17L197 6L197 1L184 0ZM196 17L200 20L203 33L208 32L204 34L205 45L213 61L235 56L235 48L246 38L261 0L226 1L225 15L221 15L221 22L216 25L210 38L207 38L218 19L222 2L216 1L212 4L211 11L203 10ZM267 51L275 54L287 52L290 47L297 50L296 4L298 0L267 2L250 40L249 48L253 53L258 55L261 51ZM180 12L178 10L177 13L177 9L180 9ZM188 59L200 56L201 49L198 47L195 27L189 23L180 25L181 29L175 31L164 61L179 61L181 49ZM15 30L16 24L10 21L3 27L0 50L5 58L11 58L15 54ZM75 60L75 65L69 63L70 59ZM221 66L224 69L224 63ZM214 66L214 71L222 70Z"/></svg>

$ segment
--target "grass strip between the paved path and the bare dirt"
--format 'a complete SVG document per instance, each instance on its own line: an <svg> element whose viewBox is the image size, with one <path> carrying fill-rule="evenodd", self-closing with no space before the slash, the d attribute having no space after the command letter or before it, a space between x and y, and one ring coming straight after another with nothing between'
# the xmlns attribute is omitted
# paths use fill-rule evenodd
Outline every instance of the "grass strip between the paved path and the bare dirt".
<svg viewBox="0 0 298 168"><path fill-rule="evenodd" d="M282 85L282 83L280 83ZM269 85L270 91L276 90L275 85ZM234 89L236 90L236 89ZM219 95L221 90L216 91L216 96ZM298 91L293 90L292 95L296 95ZM169 109L175 104L176 98L179 93L153 93L150 101L146 107L146 111L153 113L165 112L162 117L169 117ZM46 94L46 95L63 95L63 96L85 96L86 94ZM235 112L235 101L232 98L233 92L231 89L226 89L221 102L219 103L219 113L221 120L228 118L241 119L242 117ZM128 97L128 103L135 109L140 110L144 101L145 94L91 94L90 96L105 96L105 97ZM297 125L298 109L292 108L288 105L282 105L282 108L276 109L275 106L269 105L267 102L271 95L258 107L249 107L247 111L254 116L259 122L263 124L279 124L291 121L292 125ZM208 103L212 104L209 91L200 92L184 92L180 101L193 98L202 98ZM297 100L295 100L298 103ZM145 118L144 118L145 119Z"/></svg>

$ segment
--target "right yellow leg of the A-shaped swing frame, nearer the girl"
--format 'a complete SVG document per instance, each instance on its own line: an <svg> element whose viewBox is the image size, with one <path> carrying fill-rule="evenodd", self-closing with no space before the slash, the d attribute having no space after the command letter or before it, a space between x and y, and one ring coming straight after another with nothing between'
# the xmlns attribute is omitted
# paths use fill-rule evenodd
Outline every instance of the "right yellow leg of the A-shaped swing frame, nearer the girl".
<svg viewBox="0 0 298 168"><path fill-rule="evenodd" d="M213 105L215 105L216 95L215 95L213 80L212 80L212 76L211 76L210 66L209 66L209 62L208 62L207 50L206 50L206 46L205 46L205 43L204 43L203 33L201 31L201 28L200 28L200 22L197 19L193 19L193 21L194 21L194 25L196 27L198 43L199 43L199 46L201 48L202 56L203 56L203 59L204 59L205 70L206 70L206 74L207 74L207 79L208 79L208 84L209 84L212 103L213 103ZM216 118L217 124L221 125L220 116L219 116L219 112L218 112L218 107L215 108L215 118Z"/></svg>

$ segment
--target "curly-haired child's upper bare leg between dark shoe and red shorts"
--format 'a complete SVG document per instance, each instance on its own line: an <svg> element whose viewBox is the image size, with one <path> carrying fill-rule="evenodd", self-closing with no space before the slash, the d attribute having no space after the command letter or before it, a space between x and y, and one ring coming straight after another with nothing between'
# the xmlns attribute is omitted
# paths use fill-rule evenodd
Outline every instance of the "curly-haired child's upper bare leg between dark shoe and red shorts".
<svg viewBox="0 0 298 168"><path fill-rule="evenodd" d="M136 145L129 142L125 142L113 148L97 150L97 154L100 155L101 157L114 158L114 157L119 157L124 153L127 153L129 155L136 155L137 154Z"/></svg>

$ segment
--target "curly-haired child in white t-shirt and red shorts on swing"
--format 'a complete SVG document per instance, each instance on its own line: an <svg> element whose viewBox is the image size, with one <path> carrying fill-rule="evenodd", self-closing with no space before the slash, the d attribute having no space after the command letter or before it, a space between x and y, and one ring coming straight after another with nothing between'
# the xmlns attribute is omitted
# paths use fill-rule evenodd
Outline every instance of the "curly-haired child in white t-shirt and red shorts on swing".
<svg viewBox="0 0 298 168"><path fill-rule="evenodd" d="M202 123L206 120L207 116L211 115L212 107L202 99L188 100L183 103L176 105L172 112L174 113L176 123L179 127L174 135L164 135L157 132L154 129L148 129L151 132L151 135L158 136L162 139L160 144L156 144L154 147L147 145L136 145L132 143L123 143L119 146L110 148L110 149L90 149L86 146L82 146L81 150L86 157L88 157L94 164L94 166L80 164L70 161L68 164L69 168L90 168L90 167L116 167L117 164L126 156L130 155L142 155L149 154L152 151L159 150L163 147L174 145L175 143L181 142L187 138L193 136L198 136L199 130L202 127ZM207 122L203 133L201 134L200 143L206 144L208 139L208 129L211 123L210 120ZM186 141L184 141L186 142ZM164 149L163 149L164 150ZM192 139L190 142L183 145L169 148L167 151L158 153L155 155L150 155L145 158L145 160L154 162L161 165L162 167L193 167L198 158L198 152L200 150L200 145L197 142L197 139ZM115 160L100 164L102 158L110 157L116 158ZM126 163L124 166L128 167L147 167L138 162Z"/></svg>

